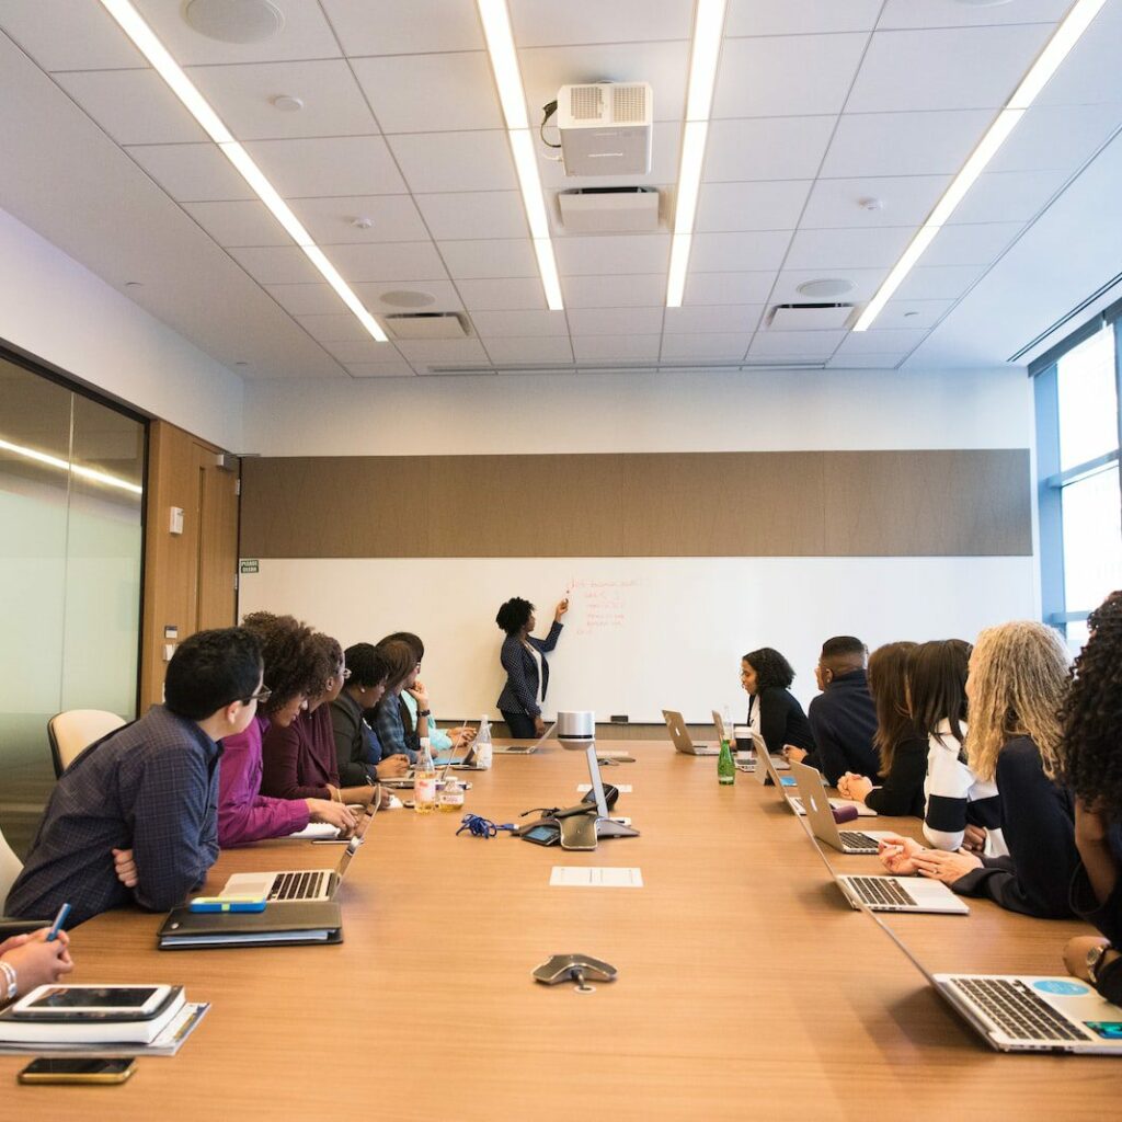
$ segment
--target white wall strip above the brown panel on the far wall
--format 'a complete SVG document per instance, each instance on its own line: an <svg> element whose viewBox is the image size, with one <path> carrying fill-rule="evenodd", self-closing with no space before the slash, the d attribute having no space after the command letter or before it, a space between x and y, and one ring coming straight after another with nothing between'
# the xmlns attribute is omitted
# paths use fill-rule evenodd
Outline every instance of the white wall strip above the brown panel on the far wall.
<svg viewBox="0 0 1122 1122"><path fill-rule="evenodd" d="M419 439L420 434L420 439ZM1022 369L247 383L263 456L1031 448Z"/></svg>

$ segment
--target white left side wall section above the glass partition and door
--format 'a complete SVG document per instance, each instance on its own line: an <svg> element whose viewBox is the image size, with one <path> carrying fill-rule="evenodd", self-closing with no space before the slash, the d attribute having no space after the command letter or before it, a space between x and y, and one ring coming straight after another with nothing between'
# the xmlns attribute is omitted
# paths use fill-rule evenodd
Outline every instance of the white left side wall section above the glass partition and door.
<svg viewBox="0 0 1122 1122"><path fill-rule="evenodd" d="M240 378L3 210L0 339L221 448L242 444Z"/></svg>

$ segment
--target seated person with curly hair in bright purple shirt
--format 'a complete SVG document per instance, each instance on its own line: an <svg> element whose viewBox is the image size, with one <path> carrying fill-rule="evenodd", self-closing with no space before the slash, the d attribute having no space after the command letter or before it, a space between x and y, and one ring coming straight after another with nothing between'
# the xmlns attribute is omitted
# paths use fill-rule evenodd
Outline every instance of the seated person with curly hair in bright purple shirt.
<svg viewBox="0 0 1122 1122"><path fill-rule="evenodd" d="M270 725L287 726L307 703L323 693L338 669L327 649L316 645L311 627L292 616L254 611L241 624L261 644L267 696L258 702L249 727L222 742L219 762L218 844L245 845L284 837L310 821L347 830L355 816L328 799L270 799L261 790L261 742Z"/></svg>

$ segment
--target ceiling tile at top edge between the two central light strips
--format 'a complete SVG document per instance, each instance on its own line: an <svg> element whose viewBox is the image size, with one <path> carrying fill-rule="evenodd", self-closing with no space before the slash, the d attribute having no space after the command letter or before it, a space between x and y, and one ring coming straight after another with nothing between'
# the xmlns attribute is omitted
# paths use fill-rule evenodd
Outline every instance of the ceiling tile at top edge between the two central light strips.
<svg viewBox="0 0 1122 1122"><path fill-rule="evenodd" d="M682 0L511 0L519 47L688 39L692 15Z"/></svg>

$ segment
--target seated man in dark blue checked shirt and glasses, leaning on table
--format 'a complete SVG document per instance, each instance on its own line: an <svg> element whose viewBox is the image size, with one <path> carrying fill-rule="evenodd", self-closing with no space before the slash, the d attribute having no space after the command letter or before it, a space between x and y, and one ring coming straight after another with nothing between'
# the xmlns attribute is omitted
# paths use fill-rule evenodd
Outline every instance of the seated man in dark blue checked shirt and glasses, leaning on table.
<svg viewBox="0 0 1122 1122"><path fill-rule="evenodd" d="M218 742L242 732L267 696L248 631L181 643L165 703L91 745L58 780L6 913L53 916L68 900L73 927L127 903L166 911L197 890L218 857Z"/></svg>

